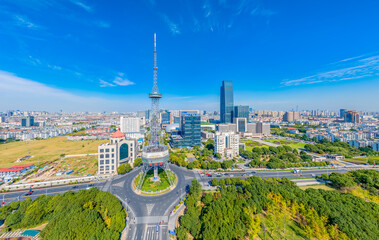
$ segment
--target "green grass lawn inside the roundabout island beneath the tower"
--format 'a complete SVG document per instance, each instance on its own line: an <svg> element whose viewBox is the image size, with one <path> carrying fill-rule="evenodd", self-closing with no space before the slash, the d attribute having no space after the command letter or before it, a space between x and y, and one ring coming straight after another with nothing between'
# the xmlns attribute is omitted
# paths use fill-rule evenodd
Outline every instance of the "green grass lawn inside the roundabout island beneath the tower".
<svg viewBox="0 0 379 240"><path fill-rule="evenodd" d="M169 172L169 175L171 179L175 177L175 175L171 171ZM159 181L156 181L156 182L152 181L152 178L154 177L154 170L153 169L149 170L145 176L141 190L145 192L148 192L148 191L156 192L158 190L165 190L166 188L168 188L170 186L170 183L163 169L161 168L158 169L158 176L160 178ZM141 178L141 174L138 175L138 177L136 178L136 185L138 185L140 178Z"/></svg>

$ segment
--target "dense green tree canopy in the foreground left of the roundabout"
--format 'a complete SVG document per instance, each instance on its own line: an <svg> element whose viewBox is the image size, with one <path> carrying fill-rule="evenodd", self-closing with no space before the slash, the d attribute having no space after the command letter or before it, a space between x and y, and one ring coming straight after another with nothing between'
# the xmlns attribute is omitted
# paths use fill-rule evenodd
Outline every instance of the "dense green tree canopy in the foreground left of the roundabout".
<svg viewBox="0 0 379 240"><path fill-rule="evenodd" d="M42 239L119 239L126 213L120 201L96 188L42 195L13 202L0 209L6 230L25 229L47 222Z"/></svg>

